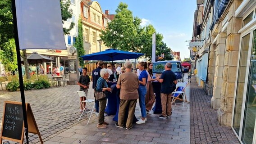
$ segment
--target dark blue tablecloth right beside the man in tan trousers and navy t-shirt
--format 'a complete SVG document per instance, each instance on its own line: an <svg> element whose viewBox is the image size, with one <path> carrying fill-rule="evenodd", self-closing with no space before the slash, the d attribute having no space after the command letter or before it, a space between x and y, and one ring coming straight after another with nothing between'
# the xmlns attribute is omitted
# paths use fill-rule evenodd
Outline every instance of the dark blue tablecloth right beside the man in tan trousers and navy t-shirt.
<svg viewBox="0 0 256 144"><path fill-rule="evenodd" d="M161 83L158 81L153 81L152 84L153 84L153 89L155 93L155 106L152 110L154 111L154 114L162 113L161 94L160 94Z"/></svg>

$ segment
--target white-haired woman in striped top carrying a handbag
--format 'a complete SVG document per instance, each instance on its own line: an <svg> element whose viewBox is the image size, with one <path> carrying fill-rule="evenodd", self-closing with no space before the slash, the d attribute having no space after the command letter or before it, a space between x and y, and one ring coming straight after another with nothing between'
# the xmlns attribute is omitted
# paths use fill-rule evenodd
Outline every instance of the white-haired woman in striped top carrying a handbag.
<svg viewBox="0 0 256 144"><path fill-rule="evenodd" d="M98 116L98 125L97 125L97 128L107 128L109 123L108 122L105 122L104 121L104 111L105 111L105 108L106 108L106 103L107 103L107 92L105 91L110 91L111 88L108 87L107 85L107 79L109 77L109 71L105 68L101 69L101 77L98 79L97 81L97 85L96 85L96 91L97 92L102 92L102 93L99 93L99 94L96 94L96 99L99 100L99 103L100 103L100 108L99 108L99 116ZM100 98L97 96L102 96L105 94L105 98Z"/></svg>

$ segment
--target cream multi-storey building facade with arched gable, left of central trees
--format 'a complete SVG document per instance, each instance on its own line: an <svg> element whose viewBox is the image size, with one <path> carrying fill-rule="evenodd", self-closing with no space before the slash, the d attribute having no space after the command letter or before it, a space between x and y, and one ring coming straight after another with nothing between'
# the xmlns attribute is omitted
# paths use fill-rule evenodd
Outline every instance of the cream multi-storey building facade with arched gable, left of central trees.
<svg viewBox="0 0 256 144"><path fill-rule="evenodd" d="M107 14L102 12L97 1L82 0L80 4L85 53L92 54L109 49L100 38L101 30L105 30L107 22L110 22Z"/></svg>

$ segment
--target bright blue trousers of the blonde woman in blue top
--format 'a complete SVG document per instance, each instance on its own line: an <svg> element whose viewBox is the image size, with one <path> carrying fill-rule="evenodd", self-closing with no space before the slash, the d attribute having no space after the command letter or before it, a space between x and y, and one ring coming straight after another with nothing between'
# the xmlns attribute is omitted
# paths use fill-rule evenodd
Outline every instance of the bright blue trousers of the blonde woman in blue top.
<svg viewBox="0 0 256 144"><path fill-rule="evenodd" d="M146 97L146 86L139 86L139 103L141 107L142 117L146 117L146 104L145 104L145 97Z"/></svg>

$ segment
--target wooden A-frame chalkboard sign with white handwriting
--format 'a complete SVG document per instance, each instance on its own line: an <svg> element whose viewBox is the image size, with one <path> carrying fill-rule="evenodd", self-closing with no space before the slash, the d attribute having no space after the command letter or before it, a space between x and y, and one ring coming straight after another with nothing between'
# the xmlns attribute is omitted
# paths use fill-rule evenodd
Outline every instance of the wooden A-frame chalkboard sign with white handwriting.
<svg viewBox="0 0 256 144"><path fill-rule="evenodd" d="M29 103L26 103L26 111L28 132L37 134L39 136L41 144L43 144L35 117L32 113L32 109ZM0 144L2 144L2 139L9 139L23 144L23 137L24 122L22 103L16 101L5 101Z"/></svg>

